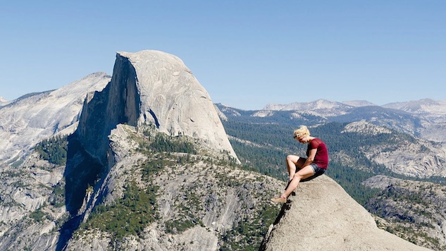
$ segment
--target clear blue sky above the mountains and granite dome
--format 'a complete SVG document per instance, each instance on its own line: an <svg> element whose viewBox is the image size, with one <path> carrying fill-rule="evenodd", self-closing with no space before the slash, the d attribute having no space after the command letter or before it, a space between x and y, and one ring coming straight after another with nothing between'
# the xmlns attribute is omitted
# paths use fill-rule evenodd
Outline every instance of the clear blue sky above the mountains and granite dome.
<svg viewBox="0 0 446 251"><path fill-rule="evenodd" d="M446 1L1 1L0 96L180 57L214 103L378 105L446 94Z"/></svg>

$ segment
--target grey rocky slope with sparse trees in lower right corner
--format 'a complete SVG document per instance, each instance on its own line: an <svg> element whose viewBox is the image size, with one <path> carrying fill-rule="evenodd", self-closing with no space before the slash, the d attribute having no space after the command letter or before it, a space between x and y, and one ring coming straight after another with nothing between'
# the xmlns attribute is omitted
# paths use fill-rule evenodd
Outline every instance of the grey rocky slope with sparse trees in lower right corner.
<svg viewBox="0 0 446 251"><path fill-rule="evenodd" d="M433 250L446 249L446 186L378 175L364 185L379 189L364 206L380 228Z"/></svg>

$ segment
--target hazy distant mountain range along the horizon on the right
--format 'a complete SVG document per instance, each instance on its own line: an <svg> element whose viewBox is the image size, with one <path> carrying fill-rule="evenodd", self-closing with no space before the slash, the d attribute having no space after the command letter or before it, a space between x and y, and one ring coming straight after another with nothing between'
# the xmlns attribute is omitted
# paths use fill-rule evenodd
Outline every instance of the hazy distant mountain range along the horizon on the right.
<svg viewBox="0 0 446 251"><path fill-rule="evenodd" d="M378 106L367 101L314 102L268 104L259 116L271 116L271 111L295 111L321 116L326 121L367 121L397 128L426 140L446 142L446 100L420 99ZM268 114L268 115L266 115Z"/></svg>

